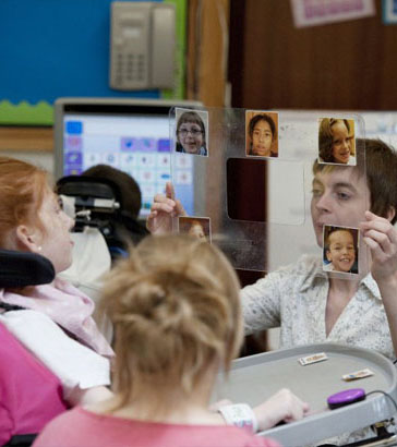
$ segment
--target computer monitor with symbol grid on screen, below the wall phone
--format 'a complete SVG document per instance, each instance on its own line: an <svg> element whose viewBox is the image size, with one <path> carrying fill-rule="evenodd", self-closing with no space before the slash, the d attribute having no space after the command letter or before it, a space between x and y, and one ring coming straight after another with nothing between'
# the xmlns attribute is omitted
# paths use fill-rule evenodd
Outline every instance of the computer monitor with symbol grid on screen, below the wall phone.
<svg viewBox="0 0 397 447"><path fill-rule="evenodd" d="M132 176L142 192L141 218L156 193L170 180L172 107L194 108L196 101L125 98L59 98L55 102L55 174L80 174L105 164ZM185 170L184 204L194 212L193 162ZM183 173L183 172L182 172Z"/></svg>

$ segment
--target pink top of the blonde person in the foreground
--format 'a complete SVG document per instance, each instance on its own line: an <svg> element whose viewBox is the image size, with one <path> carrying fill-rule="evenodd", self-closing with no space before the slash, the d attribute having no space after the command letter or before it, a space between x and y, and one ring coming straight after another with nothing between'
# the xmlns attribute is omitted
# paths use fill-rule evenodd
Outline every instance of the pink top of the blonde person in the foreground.
<svg viewBox="0 0 397 447"><path fill-rule="evenodd" d="M234 426L143 422L75 408L50 422L33 446L279 447L279 444Z"/></svg>

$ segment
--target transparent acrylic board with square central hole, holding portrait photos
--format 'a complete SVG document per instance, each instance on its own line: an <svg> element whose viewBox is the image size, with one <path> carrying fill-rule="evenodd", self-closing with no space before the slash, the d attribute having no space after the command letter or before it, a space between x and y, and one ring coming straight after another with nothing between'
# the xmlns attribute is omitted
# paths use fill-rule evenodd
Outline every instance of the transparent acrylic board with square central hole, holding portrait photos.
<svg viewBox="0 0 397 447"><path fill-rule="evenodd" d="M318 120L338 118L354 121L354 137L364 138L363 119L354 113L268 111L278 114L278 156L253 157L246 154L245 141L248 122L245 109L201 108L206 112L205 133L207 156L181 154L175 150L177 144L178 120L185 111L175 108L170 111L171 178L176 197L183 205L183 188L178 169L184 164L193 164L194 209L192 217L210 219L212 243L218 245L231 261L234 268L273 271L296 263L302 255L323 257L323 249L317 245L311 219L313 162L318 157ZM250 110L251 111L251 110ZM257 110L257 112L262 110ZM363 166L365 173L365 152L357 150L357 164ZM237 161L236 161L237 160ZM265 160L265 161L264 161ZM244 195L245 180L229 178L230 164L264 164L265 168L265 212L262 221L236 219L230 216L231 186L242 202L255 202L258 194ZM336 169L357 169L350 166L336 166ZM236 171L234 171L236 172ZM234 184L236 183L236 184ZM228 197L229 188L229 197ZM363 192L363 200L368 200ZM244 198L245 197L245 198ZM228 202L229 200L229 202ZM329 225L359 228L359 221L333 221ZM178 220L175 221L178 231ZM358 246L360 274L368 268L368 250L359 238ZM322 263L320 262L320 266ZM318 275L324 275L320 267ZM356 277L341 274L342 278Z"/></svg>

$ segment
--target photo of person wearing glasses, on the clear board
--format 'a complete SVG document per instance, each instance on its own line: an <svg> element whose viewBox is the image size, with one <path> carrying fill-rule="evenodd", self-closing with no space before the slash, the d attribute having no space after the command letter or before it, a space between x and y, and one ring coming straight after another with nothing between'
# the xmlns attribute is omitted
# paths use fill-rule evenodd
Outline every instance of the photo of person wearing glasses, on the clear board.
<svg viewBox="0 0 397 447"><path fill-rule="evenodd" d="M176 109L176 152L208 156L208 112Z"/></svg>

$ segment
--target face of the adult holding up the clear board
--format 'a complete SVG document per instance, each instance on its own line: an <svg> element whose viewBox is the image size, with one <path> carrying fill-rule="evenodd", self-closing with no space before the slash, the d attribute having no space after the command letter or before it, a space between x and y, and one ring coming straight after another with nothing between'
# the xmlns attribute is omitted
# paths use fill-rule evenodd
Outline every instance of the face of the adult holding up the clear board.
<svg viewBox="0 0 397 447"><path fill-rule="evenodd" d="M365 176L353 167L317 172L313 179L311 214L317 244L323 245L323 226L358 227L370 209Z"/></svg>

